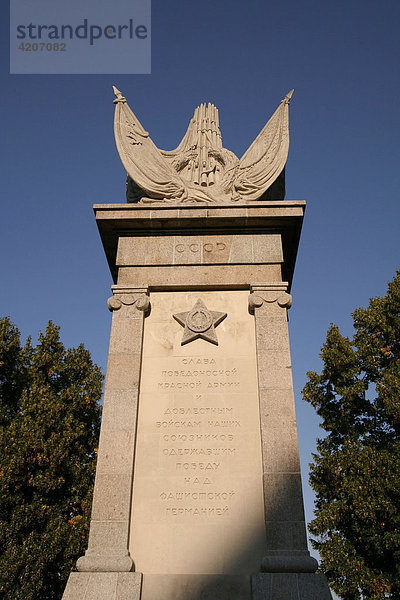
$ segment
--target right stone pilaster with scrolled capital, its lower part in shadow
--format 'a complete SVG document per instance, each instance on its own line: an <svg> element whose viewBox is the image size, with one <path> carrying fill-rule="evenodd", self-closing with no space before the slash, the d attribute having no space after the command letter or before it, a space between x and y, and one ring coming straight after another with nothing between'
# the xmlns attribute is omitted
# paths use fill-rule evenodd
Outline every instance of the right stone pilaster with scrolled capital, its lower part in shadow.
<svg viewBox="0 0 400 600"><path fill-rule="evenodd" d="M256 321L268 547L261 568L313 572L317 564L307 550L287 329L291 296L284 282L252 284L249 306Z"/></svg>

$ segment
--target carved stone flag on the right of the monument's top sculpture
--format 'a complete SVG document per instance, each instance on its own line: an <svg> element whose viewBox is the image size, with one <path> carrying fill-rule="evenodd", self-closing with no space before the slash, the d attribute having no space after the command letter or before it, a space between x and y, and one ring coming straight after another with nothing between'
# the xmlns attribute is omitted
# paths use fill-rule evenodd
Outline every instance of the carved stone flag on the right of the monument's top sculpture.
<svg viewBox="0 0 400 600"><path fill-rule="evenodd" d="M258 200L283 171L289 151L289 102L292 90L244 153L235 170L234 195Z"/></svg>

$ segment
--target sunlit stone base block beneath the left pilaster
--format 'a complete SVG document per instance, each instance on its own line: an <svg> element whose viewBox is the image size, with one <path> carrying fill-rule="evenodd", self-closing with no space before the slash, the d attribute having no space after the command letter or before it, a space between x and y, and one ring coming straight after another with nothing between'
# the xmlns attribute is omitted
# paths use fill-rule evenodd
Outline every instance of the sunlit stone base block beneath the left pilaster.
<svg viewBox="0 0 400 600"><path fill-rule="evenodd" d="M142 573L71 573L63 600L140 600Z"/></svg>

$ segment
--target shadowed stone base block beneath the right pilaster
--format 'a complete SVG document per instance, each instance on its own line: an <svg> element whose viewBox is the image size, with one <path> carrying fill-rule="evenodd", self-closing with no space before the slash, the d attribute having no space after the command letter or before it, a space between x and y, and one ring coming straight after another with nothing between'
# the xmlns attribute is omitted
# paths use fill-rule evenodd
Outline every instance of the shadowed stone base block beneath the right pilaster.
<svg viewBox="0 0 400 600"><path fill-rule="evenodd" d="M332 600L322 573L257 573L251 589L252 600Z"/></svg>

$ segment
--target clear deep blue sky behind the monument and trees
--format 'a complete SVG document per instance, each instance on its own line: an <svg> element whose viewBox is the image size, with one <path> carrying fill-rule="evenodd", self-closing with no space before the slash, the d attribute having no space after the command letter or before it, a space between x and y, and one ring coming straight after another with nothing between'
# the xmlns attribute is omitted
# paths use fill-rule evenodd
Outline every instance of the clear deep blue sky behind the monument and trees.
<svg viewBox="0 0 400 600"><path fill-rule="evenodd" d="M84 5L84 0L83 3ZM115 84L155 143L174 148L202 101L241 156L286 92L288 200L307 200L290 311L307 519L320 435L301 400L329 324L383 295L399 268L398 0L153 0L151 75L9 75L1 7L0 314L35 339L48 319L105 371L111 277L91 205L124 202Z"/></svg>

